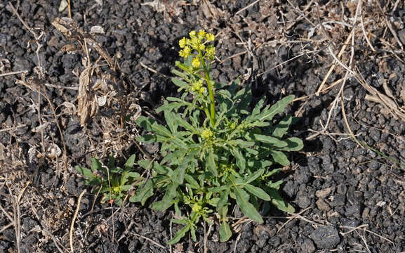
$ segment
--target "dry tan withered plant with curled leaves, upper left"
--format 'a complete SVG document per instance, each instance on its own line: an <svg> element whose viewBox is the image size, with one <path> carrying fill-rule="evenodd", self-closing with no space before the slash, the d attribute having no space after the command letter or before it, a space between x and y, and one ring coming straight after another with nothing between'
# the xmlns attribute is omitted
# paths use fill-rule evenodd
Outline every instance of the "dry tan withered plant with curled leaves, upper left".
<svg viewBox="0 0 405 253"><path fill-rule="evenodd" d="M55 18L52 25L67 39L74 41L73 44L63 46L62 51L80 51L84 54L82 63L84 70L79 74L79 92L77 94L77 114L80 117L81 126L85 126L88 119L98 115L100 108L105 106L107 111L113 109L119 115L121 127L123 127L124 117L134 102L131 102L126 96L130 83L121 73L119 64L93 37L93 34L103 34L103 28L93 26L91 32L84 32L71 18ZM91 61L89 48L93 48L98 53L98 60L95 62ZM101 60L107 63L109 73L102 71Z"/></svg>

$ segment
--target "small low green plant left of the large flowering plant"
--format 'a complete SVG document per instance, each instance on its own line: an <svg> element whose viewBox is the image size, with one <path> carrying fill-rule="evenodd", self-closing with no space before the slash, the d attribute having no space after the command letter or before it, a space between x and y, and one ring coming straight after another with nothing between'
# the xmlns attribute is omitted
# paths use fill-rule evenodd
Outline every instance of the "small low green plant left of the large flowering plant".
<svg viewBox="0 0 405 253"><path fill-rule="evenodd" d="M128 190L140 179L140 174L131 171L135 162L135 155L131 155L124 164L124 168L116 166L112 155L109 156L107 167L95 157L91 158L91 169L77 166L76 169L90 186L100 186L93 189L93 193L102 193L101 202L115 202L121 206Z"/></svg>

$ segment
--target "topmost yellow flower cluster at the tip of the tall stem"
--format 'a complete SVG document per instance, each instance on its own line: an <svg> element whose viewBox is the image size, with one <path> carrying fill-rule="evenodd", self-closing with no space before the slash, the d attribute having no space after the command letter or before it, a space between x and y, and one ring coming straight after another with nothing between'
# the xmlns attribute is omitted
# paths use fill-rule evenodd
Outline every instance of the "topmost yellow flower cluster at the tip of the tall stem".
<svg viewBox="0 0 405 253"><path fill-rule="evenodd" d="M179 52L179 56L187 58L192 55L193 50L196 50L197 54L201 53L203 58L208 58L208 60L212 60L215 57L215 47L211 44L206 46L207 42L215 40L214 34L199 30L199 32L191 31L189 35L190 39L183 37L178 42L180 48L182 48ZM192 66L199 67L200 65L199 57L193 58Z"/></svg>

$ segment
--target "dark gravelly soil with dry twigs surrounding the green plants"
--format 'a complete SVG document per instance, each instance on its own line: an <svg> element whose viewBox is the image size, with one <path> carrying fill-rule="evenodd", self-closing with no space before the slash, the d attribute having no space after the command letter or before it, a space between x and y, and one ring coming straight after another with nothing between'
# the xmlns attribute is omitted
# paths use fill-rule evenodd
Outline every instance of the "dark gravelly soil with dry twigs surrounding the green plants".
<svg viewBox="0 0 405 253"><path fill-rule="evenodd" d="M405 164L404 121L366 99L368 91L350 77L343 93L345 115L351 131L371 148L362 148L347 134L340 100L327 131L308 138L325 126L342 85L314 95L334 60L328 46L337 54L352 29L327 21L351 25L356 3L320 1L317 9L312 1L259 1L239 11L254 1L221 0L207 11L208 1L161 1L166 11L159 12L159 6L142 2L81 0L72 1L71 7L82 30L94 25L105 30L96 39L116 56L121 77L129 80L124 95L141 105L144 115L156 115L153 109L162 98L176 96L169 77L175 60L180 60L178 39L200 28L217 34L213 77L219 82L251 74L246 82L251 82L255 100L265 96L267 103L289 94L307 96L288 108L300 117L293 135L305 140L305 148L291 154L294 164L281 188L297 214L271 209L263 224L239 219L241 226L234 230L240 231L229 242L219 242L214 225L206 242L208 252L405 252L405 179L397 164ZM405 53L395 38L405 38L404 3L382 6L398 31L394 36L384 18L376 20L373 13L380 9L368 2L363 3L363 17L368 32L376 34L369 36L375 51L359 28L354 65L381 93L387 93L388 86L404 109ZM27 71L0 77L0 252L69 252L70 224L85 189L74 224L74 252L204 252L202 225L197 229L199 242L185 237L178 245L166 245L171 228L172 235L180 228L170 223L173 210L154 212L133 203L119 209L101 204L100 197L89 193L91 188L74 166L88 166L91 156L105 158L109 153L119 159L135 153L141 159L132 139L138 129L133 124L121 129L119 117L107 109L82 127L65 102L77 106L79 78L74 73L84 69L84 55L62 52L62 46L72 42L51 25L54 18L67 17L67 9L58 11L60 1L20 0L13 5L22 20L43 35L36 53L32 33L8 1L0 0L0 74ZM309 13L307 18L294 11L298 9ZM371 23L375 25L367 26ZM250 53L244 53L247 50ZM348 64L350 46L346 51L343 59ZM97 60L94 52L91 57ZM107 72L106 67L100 70ZM337 65L325 85L345 72ZM49 155L53 145L63 153L63 143L66 160ZM157 150L153 145L142 148L150 155ZM239 214L233 213L240 218Z"/></svg>

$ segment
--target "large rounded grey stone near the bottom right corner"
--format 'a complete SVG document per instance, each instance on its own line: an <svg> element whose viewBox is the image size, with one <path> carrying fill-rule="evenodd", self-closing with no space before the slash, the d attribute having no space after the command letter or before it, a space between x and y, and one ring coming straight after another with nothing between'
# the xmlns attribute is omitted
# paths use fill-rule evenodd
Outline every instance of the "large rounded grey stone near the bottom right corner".
<svg viewBox="0 0 405 253"><path fill-rule="evenodd" d="M333 249L340 242L338 230L334 226L321 226L311 233L317 247L320 249Z"/></svg>

